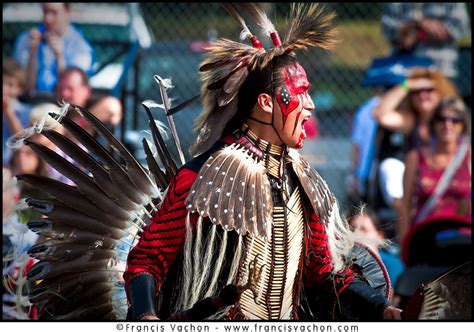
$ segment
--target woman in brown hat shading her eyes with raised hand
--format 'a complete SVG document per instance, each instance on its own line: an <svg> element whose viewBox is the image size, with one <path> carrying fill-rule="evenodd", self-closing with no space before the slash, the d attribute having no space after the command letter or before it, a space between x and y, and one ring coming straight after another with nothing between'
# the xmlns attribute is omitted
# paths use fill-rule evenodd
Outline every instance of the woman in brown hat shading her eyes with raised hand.
<svg viewBox="0 0 474 332"><path fill-rule="evenodd" d="M430 144L429 121L441 98L456 96L454 84L441 72L413 68L408 78L389 89L373 111L387 130L379 144L379 184L387 205L400 215L404 158L407 151Z"/></svg>

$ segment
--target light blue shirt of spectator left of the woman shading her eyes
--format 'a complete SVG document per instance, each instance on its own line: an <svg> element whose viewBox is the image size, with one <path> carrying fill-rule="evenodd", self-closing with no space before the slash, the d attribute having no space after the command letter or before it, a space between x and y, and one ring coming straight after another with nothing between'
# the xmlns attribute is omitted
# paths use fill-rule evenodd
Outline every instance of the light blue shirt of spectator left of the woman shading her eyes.
<svg viewBox="0 0 474 332"><path fill-rule="evenodd" d="M379 97L372 97L360 106L354 116L352 129L352 143L359 146L359 160L356 170L357 178L362 189L365 190L365 179L370 173L370 166L374 157L375 134L377 122L372 112L380 102Z"/></svg>

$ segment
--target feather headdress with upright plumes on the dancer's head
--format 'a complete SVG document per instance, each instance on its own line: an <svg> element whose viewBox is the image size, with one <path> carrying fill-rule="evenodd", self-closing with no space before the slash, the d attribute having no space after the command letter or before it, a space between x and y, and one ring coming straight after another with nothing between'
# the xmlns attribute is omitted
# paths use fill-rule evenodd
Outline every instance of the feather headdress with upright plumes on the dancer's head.
<svg viewBox="0 0 474 332"><path fill-rule="evenodd" d="M223 134L227 123L237 112L238 93L250 72L266 68L275 57L308 47L333 50L337 42L337 31L331 26L335 14L324 14L319 4L291 5L288 32L283 42L259 4L239 4L263 33L272 39L274 47L270 49L263 48L250 32L237 5L223 6L242 27L241 39L248 38L252 46L220 39L207 49L199 69L203 82L201 97L204 111L196 122L198 137L190 148L193 155L209 149Z"/></svg>

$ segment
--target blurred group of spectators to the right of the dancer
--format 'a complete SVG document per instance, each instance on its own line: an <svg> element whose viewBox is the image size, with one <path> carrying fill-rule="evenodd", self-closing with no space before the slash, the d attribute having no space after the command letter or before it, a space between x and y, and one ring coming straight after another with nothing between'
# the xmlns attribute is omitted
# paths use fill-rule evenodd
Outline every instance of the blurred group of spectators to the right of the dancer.
<svg viewBox="0 0 474 332"><path fill-rule="evenodd" d="M464 3L391 3L381 24L391 53L362 82L373 96L353 119L348 191L364 208L349 221L377 244L403 308L471 259L471 99L455 83L470 20Z"/></svg>

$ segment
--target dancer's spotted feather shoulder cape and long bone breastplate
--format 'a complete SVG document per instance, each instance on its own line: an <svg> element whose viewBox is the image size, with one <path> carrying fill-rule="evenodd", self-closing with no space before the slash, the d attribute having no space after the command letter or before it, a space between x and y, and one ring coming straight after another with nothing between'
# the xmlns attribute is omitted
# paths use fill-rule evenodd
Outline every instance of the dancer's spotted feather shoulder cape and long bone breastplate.
<svg viewBox="0 0 474 332"><path fill-rule="evenodd" d="M256 294L246 290L238 304L246 318L294 318L305 236L302 195L326 225L331 255L340 264L343 248L335 238L344 238L344 229L338 227L335 198L296 151L265 142L244 126L207 159L191 187L189 213L243 239L233 283L245 283L250 262L262 269Z"/></svg>

